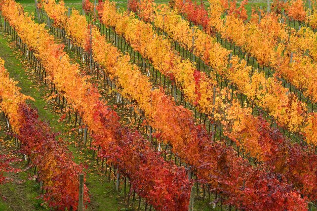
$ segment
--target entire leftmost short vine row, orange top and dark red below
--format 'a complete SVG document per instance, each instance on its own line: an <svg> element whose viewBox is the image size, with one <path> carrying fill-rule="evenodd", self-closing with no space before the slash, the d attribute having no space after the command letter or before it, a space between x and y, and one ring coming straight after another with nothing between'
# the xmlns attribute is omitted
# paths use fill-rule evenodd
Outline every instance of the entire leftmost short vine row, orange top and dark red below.
<svg viewBox="0 0 317 211"><path fill-rule="evenodd" d="M58 210L77 210L78 175L83 167L72 160L63 140L57 140L57 134L48 123L39 120L37 111L26 104L25 100L31 98L20 93L3 65L0 59L0 108L21 141L21 151L29 155L37 167L39 180L44 184L44 200ZM89 201L86 186L84 195L86 203Z"/></svg>

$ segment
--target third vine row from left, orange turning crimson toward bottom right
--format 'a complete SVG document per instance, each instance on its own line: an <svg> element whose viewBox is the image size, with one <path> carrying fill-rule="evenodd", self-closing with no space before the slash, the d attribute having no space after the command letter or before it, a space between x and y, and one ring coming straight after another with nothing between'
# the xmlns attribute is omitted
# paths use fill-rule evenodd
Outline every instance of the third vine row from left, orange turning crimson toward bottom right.
<svg viewBox="0 0 317 211"><path fill-rule="evenodd" d="M105 2L105 4L107 3L110 4L109 2ZM55 3L48 4L47 7L54 8L54 4ZM46 6L44 6L44 8L45 7ZM115 10L115 6L113 8ZM112 15L116 15L115 11L114 11L114 14L111 14L111 16ZM122 24L120 22L120 19L116 21L119 24ZM66 31L71 39L73 39L73 36L76 36L77 32L90 34L89 31L91 26L88 26L87 23L83 24L85 22L85 17L78 15L78 12L73 12L71 17L69 18L69 22L72 22L72 23L66 25ZM75 29L68 28L67 27L68 25L76 26L76 28ZM174 116L170 116L169 114L170 111L168 111L166 108L173 108L173 105L175 106L175 104L168 98L163 98L162 96L162 99L161 99L162 102L157 101L160 107L158 107L159 109L155 110L155 105L149 104L148 102L146 102L146 101L155 102L155 95L149 92L150 86L148 85L148 82L146 82L146 79L143 79L144 77L140 74L140 71L138 70L138 68L129 64L129 58L127 58L128 56L123 56L121 53L118 53L118 51L114 47L112 47L110 44L106 44L105 37L101 36L98 30L96 30L94 27L92 27L91 30L92 30L92 36L91 36L92 53L93 53L94 59L95 61L98 61L101 65L105 67L105 71L107 71L107 73L109 73L111 77L113 78L116 77L117 81L119 81L120 85L122 86L122 90L123 90L122 93L124 93L124 95L128 96L130 99L131 98L135 99L139 103L139 106L140 104L141 106L142 104L149 106L150 108L147 108L147 110L152 109L153 112L154 111L160 112L160 110L162 110L162 113L160 113L161 119L155 116L151 117L148 111L145 111L145 113L147 113L147 116L149 116L148 119L150 120L150 124L154 125L153 128L160 130L161 132L159 134L160 138L162 140L168 140L173 145L174 151L180 157L185 159L187 163L195 167L199 177L201 177L204 181L212 184L216 188L217 191L222 192L224 194L224 197L227 203L234 204L237 207L247 206L248 210L249 209L259 210L259 207L255 208L256 206L252 205L251 201L246 197L244 199L239 199L238 200L239 202L235 200L237 198L240 198L238 195L244 195L244 193L247 193L247 192L248 194L250 193L252 195L253 200L256 200L256 201L259 200L258 197L260 196L258 195L258 193L256 193L257 192L256 186L254 186L252 183L249 183L249 181L244 181L243 177L245 177L244 176L245 174L248 174L248 175L260 174L261 175L260 178L263 178L262 182L257 180L259 179L259 177L257 177L257 179L254 180L253 182L257 181L258 185L260 183L262 184L260 185L261 187L265 187L264 184L267 184L267 182L271 181L271 179L273 179L271 178L273 175L269 174L271 176L268 176L268 174L263 171L253 169L244 160L242 160L241 158L237 158L236 153L231 147L226 147L223 144L218 142L211 144L205 130L203 130L201 127L195 129L192 118L190 121L186 120L186 118L188 118L187 115L184 115L186 114L185 112L186 110L183 110L182 107L178 107L177 110L175 111L176 112L175 114L177 115L180 115L183 113L182 116L178 117L179 119L176 118L175 114ZM85 48L87 45L90 45L88 44L88 40L90 40L90 38L80 38L80 36L77 36L76 38L74 38L74 40L76 40L76 42L78 42L78 40L82 40L80 43L77 43L77 45L80 45L83 48ZM89 51L89 49L87 48L85 49L86 51ZM196 73L195 75L196 80L200 80L201 75L199 74L199 72L196 71L195 73ZM131 78L134 78L136 81L135 82L134 80L131 81L130 80ZM145 85L148 85L148 88L146 88L146 86L144 85L141 85L139 82L144 82ZM131 84L130 85L131 87L129 87L129 84ZM141 96L138 93L139 90L145 93L144 94L145 99L142 99L143 96ZM183 111L180 111L180 110L183 110ZM169 118L172 118L172 119L176 118L176 120L178 120L179 122L178 125L180 126L177 126L177 124L174 123L174 120ZM171 121L171 124L169 121ZM163 126L164 124L165 126ZM171 130L171 128L173 128L173 130ZM182 133L183 129L186 129L187 132L185 131L186 133ZM300 146L298 145L298 149L299 148ZM222 161L220 163L218 159L219 156L222 157L221 158ZM225 172L229 171L232 174L234 173L237 175L232 177L233 175L231 175L231 173L223 172L224 165L227 166ZM226 176L224 176L223 174ZM272 181L274 180L275 179L273 179ZM245 186L245 187L248 186L248 188L246 189L243 188L241 190L241 188L239 187L242 187L242 186ZM236 190L241 190L242 191L241 194L237 194L235 192ZM247 191L247 192L244 192L244 191ZM267 191L267 190L263 189L263 191ZM273 196L273 198L274 197L275 196ZM273 201L275 200L277 199L273 199ZM266 207L270 207L269 210L280 210L281 208L281 207L275 207L273 204L271 204L272 202L271 198L268 199L266 202L269 203L265 205ZM284 205L288 206L287 204L284 204Z"/></svg>

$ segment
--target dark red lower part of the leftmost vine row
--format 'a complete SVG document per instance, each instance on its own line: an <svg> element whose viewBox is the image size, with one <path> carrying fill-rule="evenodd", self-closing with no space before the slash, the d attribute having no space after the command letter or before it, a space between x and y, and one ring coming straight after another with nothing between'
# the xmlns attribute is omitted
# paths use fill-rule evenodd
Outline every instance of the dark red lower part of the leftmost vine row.
<svg viewBox="0 0 317 211"><path fill-rule="evenodd" d="M83 167L72 160L62 140L56 140L58 134L51 131L48 123L38 119L36 110L20 105L19 112L24 119L17 138L23 153L30 155L32 164L37 166L39 179L44 181L44 200L58 210L77 210L78 175L83 173ZM89 201L86 185L84 201Z"/></svg>

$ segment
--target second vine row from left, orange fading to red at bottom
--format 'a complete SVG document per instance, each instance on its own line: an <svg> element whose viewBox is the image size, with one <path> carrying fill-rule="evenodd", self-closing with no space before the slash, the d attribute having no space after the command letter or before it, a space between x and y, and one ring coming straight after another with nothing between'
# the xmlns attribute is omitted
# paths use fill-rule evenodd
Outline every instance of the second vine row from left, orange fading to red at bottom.
<svg viewBox="0 0 317 211"><path fill-rule="evenodd" d="M165 162L159 152L135 131L122 126L116 112L106 106L96 87L82 77L78 64L70 64L63 45L45 29L23 13L12 0L0 4L2 14L17 31L22 41L35 52L50 75L57 90L70 102L92 131L99 156L107 158L127 176L138 195L153 205L155 210L185 210L188 207L190 186L184 167ZM299 200L299 204L302 203Z"/></svg>

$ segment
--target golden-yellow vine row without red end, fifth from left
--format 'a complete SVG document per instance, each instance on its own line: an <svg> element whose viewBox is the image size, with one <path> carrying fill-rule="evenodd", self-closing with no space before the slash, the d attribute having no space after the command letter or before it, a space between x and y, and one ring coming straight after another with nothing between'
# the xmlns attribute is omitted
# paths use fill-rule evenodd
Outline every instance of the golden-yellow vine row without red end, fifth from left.
<svg viewBox="0 0 317 211"><path fill-rule="evenodd" d="M154 5L149 7L155 8ZM236 56L228 62L229 51L216 43L211 35L197 27L190 28L188 21L182 19L176 11L166 6L155 8L153 11L155 27L164 30L182 47L202 58L218 74L233 82L242 94L267 110L283 128L293 133L306 132L307 106L294 95L289 95L289 90L284 88L281 82L273 77L266 78L263 72L253 72L245 60L239 60ZM308 113L308 116L314 114ZM305 141L311 143L310 139Z"/></svg>

